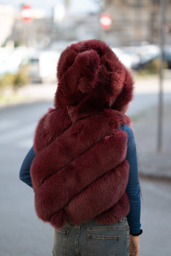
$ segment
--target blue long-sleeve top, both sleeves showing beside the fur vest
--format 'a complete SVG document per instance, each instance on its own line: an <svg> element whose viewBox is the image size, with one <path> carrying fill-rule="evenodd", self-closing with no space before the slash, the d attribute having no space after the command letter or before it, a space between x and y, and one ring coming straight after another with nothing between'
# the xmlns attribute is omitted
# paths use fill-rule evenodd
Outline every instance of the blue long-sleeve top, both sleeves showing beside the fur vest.
<svg viewBox="0 0 171 256"><path fill-rule="evenodd" d="M129 223L130 234L137 234L141 229L140 212L141 212L141 193L138 181L138 164L137 164L137 153L136 143L133 130L127 126L122 125L121 130L126 131L128 135L127 142L127 156L126 159L129 162L129 179L127 185L127 193L130 203L130 211L127 215ZM30 166L35 157L33 147L27 153L24 161L22 162L20 169L20 180L25 182L27 185L32 187L32 180L30 177Z"/></svg>

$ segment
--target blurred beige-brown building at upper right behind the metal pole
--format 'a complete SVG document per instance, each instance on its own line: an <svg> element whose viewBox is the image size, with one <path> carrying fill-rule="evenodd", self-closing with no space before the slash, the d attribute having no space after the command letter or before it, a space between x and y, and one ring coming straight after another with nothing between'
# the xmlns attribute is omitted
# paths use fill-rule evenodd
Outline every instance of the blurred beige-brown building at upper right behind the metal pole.
<svg viewBox="0 0 171 256"><path fill-rule="evenodd" d="M159 43L160 0L103 0L103 10L111 15L112 27L102 32L108 43L131 45L142 41ZM166 0L167 42L171 43L171 1Z"/></svg>

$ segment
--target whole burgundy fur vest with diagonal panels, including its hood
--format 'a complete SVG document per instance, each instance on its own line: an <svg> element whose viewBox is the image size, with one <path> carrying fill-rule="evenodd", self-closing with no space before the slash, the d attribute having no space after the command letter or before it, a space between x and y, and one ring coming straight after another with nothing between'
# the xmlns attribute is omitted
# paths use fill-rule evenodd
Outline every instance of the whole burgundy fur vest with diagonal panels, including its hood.
<svg viewBox="0 0 171 256"><path fill-rule="evenodd" d="M30 174L39 218L113 223L129 212L125 192L131 120L121 111L133 97L133 80L112 50L96 40L69 46L58 63L55 108L41 118Z"/></svg>

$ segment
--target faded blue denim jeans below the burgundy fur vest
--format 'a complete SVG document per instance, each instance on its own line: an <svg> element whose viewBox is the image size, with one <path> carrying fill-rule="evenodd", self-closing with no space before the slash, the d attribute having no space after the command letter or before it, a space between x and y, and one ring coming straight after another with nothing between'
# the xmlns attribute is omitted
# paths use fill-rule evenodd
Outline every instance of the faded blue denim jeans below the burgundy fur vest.
<svg viewBox="0 0 171 256"><path fill-rule="evenodd" d="M55 229L53 256L129 256L127 218L113 224L94 219L74 225L66 222Z"/></svg>

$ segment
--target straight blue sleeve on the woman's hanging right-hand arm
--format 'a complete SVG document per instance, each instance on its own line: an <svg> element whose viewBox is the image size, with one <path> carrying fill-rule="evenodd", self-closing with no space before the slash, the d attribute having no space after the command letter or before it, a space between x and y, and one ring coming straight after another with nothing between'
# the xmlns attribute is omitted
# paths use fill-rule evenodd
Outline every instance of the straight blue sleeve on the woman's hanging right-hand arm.
<svg viewBox="0 0 171 256"><path fill-rule="evenodd" d="M130 234L137 234L141 230L141 193L138 181L138 163L134 131L127 125L122 126L128 134L127 156L129 162L129 180L127 185L127 194L130 203L130 211L127 216Z"/></svg>

